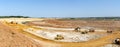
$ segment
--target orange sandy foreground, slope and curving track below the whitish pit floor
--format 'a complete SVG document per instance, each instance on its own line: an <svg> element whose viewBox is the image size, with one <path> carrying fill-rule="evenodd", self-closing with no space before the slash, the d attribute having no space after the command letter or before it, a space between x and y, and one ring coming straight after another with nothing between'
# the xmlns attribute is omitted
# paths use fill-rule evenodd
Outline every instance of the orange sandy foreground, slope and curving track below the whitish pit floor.
<svg viewBox="0 0 120 47"><path fill-rule="evenodd" d="M20 19L15 20L19 22ZM120 37L120 32L115 31L108 36L86 42L57 42L21 30L28 27L31 28L27 25L0 23L0 47L110 47L109 44Z"/></svg>

